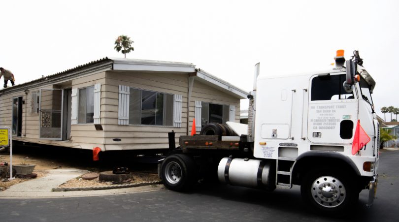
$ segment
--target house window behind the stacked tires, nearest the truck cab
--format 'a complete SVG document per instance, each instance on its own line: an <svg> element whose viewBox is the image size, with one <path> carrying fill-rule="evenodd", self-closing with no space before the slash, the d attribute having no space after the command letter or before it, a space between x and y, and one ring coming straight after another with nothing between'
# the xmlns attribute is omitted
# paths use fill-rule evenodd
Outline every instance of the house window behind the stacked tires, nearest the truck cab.
<svg viewBox="0 0 399 222"><path fill-rule="evenodd" d="M201 125L225 124L229 121L229 111L228 105L202 102Z"/></svg>

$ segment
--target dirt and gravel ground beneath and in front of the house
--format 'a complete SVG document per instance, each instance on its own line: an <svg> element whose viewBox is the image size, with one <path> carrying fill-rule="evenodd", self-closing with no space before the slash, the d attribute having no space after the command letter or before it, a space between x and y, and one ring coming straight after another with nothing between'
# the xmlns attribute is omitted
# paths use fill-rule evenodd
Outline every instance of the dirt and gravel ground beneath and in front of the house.
<svg viewBox="0 0 399 222"><path fill-rule="evenodd" d="M92 154L88 151L54 147L16 147L13 148L12 164L33 164L35 165L33 173L37 174L36 178L44 177L47 171L54 169L77 168L90 172L100 173L101 171L112 170L113 166L126 166L131 169L133 179L123 184L137 184L146 182L159 182L157 174L157 165L154 163L137 163L129 161L128 155L123 154L125 158L119 158L117 154L107 161L93 161ZM114 160L114 161L113 161ZM0 153L0 162L10 163L9 151ZM8 187L27 180L16 178L8 181L6 178L0 179L0 191ZM60 188L86 188L86 187L108 187L117 186L111 182L100 182L99 179L84 180L81 177L74 178L60 185Z"/></svg>

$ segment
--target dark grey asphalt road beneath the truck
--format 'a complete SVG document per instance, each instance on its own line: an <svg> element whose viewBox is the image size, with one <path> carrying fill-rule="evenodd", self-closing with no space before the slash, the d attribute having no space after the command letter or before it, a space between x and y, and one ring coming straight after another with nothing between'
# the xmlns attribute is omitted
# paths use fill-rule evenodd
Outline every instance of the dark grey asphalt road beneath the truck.
<svg viewBox="0 0 399 222"><path fill-rule="evenodd" d="M170 190L59 198L0 199L0 221L398 221L399 151L380 156L377 199L365 206L367 190L344 218L316 215L291 190L246 189L200 184L191 192Z"/></svg>

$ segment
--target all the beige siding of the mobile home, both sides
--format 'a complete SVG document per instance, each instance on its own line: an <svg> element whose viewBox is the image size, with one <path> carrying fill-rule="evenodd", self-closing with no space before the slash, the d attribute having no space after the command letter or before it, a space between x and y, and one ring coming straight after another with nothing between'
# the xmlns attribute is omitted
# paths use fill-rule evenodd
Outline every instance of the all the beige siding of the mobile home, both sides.
<svg viewBox="0 0 399 222"><path fill-rule="evenodd" d="M79 149L93 149L95 147L100 147L102 151L166 149L168 148L167 132L174 130L176 133L175 142L178 143L179 136L186 135L187 130L191 130L196 100L223 105L235 105L235 121L239 122L239 98L216 90L196 80L194 81L192 96L189 102L188 78L188 73L111 70L87 74L71 81L63 82L63 80L60 80L60 82L53 85L40 86L40 88L29 88L28 85L28 87L21 89L20 92L6 93L0 96L0 126L12 127L12 98L16 96L23 96L23 100L25 100L22 113L23 136L13 137L13 139ZM39 91L39 89L60 88L60 86L78 90L94 86L97 83L101 84L100 124L103 130L96 130L93 123L77 124L71 125L69 141L44 140L39 138L39 114L31 113L32 92ZM118 125L119 85L171 95L182 95L181 127ZM25 89L29 90L28 95L25 95ZM46 103L43 105L46 105ZM47 105L51 106L54 104L48 103ZM24 134L26 135L24 136ZM121 141L113 141L114 138L119 138Z"/></svg>

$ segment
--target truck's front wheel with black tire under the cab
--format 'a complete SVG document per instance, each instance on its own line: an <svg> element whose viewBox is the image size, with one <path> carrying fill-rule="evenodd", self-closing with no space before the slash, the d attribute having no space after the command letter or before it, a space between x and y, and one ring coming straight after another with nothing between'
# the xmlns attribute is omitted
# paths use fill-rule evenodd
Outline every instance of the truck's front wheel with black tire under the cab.
<svg viewBox="0 0 399 222"><path fill-rule="evenodd" d="M309 172L302 181L300 191L304 202L318 213L347 213L359 199L359 192L348 175L333 170Z"/></svg>

